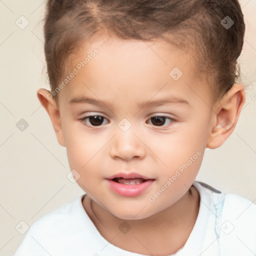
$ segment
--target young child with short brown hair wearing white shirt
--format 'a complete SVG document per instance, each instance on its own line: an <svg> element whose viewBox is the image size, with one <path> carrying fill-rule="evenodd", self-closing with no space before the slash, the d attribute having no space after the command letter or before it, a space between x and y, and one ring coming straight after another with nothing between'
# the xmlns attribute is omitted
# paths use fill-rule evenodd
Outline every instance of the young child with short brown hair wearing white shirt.
<svg viewBox="0 0 256 256"><path fill-rule="evenodd" d="M15 255L253 255L256 206L195 181L233 132L237 0L48 0L37 96L85 191Z"/></svg>

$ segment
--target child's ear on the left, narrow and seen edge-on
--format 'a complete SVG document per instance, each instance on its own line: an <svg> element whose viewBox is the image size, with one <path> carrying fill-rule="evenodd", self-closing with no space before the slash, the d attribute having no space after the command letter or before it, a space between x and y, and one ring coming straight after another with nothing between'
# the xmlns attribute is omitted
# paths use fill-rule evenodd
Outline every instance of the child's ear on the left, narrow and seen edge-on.
<svg viewBox="0 0 256 256"><path fill-rule="evenodd" d="M65 146L63 131L60 123L59 110L55 100L52 98L50 91L42 88L38 89L37 97L50 117L53 129L57 136L58 143L61 146Z"/></svg>

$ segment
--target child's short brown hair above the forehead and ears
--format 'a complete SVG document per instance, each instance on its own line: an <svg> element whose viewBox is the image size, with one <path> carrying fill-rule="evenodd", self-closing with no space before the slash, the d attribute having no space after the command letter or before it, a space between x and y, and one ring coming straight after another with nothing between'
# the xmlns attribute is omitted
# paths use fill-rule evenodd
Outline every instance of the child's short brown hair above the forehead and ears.
<svg viewBox="0 0 256 256"><path fill-rule="evenodd" d="M81 43L104 29L122 39L163 38L193 50L196 74L205 75L211 104L240 78L237 58L245 24L238 0L48 0L44 21L51 91Z"/></svg>

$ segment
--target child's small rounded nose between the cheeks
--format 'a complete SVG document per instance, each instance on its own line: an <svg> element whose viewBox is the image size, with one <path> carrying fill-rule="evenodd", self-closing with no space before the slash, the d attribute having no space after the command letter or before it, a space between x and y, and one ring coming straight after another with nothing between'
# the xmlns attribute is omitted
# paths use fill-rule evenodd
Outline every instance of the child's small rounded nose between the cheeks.
<svg viewBox="0 0 256 256"><path fill-rule="evenodd" d="M146 146L143 142L143 138L134 134L133 129L129 128L127 131L119 129L111 140L110 156L126 161L133 158L142 159L146 153Z"/></svg>

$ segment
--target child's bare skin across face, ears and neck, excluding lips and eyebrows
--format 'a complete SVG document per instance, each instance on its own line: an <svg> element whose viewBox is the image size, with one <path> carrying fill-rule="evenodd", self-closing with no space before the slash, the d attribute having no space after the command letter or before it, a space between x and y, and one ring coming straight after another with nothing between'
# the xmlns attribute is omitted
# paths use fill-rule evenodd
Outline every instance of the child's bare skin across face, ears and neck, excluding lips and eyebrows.
<svg viewBox="0 0 256 256"><path fill-rule="evenodd" d="M94 40L82 45L69 70L94 48L99 53L60 90L58 105L46 89L39 89L37 96L59 144L66 147L70 169L80 175L76 182L87 194L82 205L101 235L115 246L141 254L174 253L185 244L198 214L199 194L191 184L205 147L219 147L232 133L245 101L244 87L234 84L211 108L208 86L193 71L193 54L161 40ZM169 75L175 66L183 72L177 81ZM174 95L189 104L138 106ZM68 104L74 96L104 104ZM89 118L80 121L85 114L106 119L93 127ZM166 118L157 126L151 117L162 115L175 121ZM131 123L125 132L118 127L123 118ZM223 125L225 120L232 125ZM197 151L200 156L149 201ZM134 197L109 188L106 177L131 170L155 180ZM123 221L130 226L127 233L118 228Z"/></svg>

